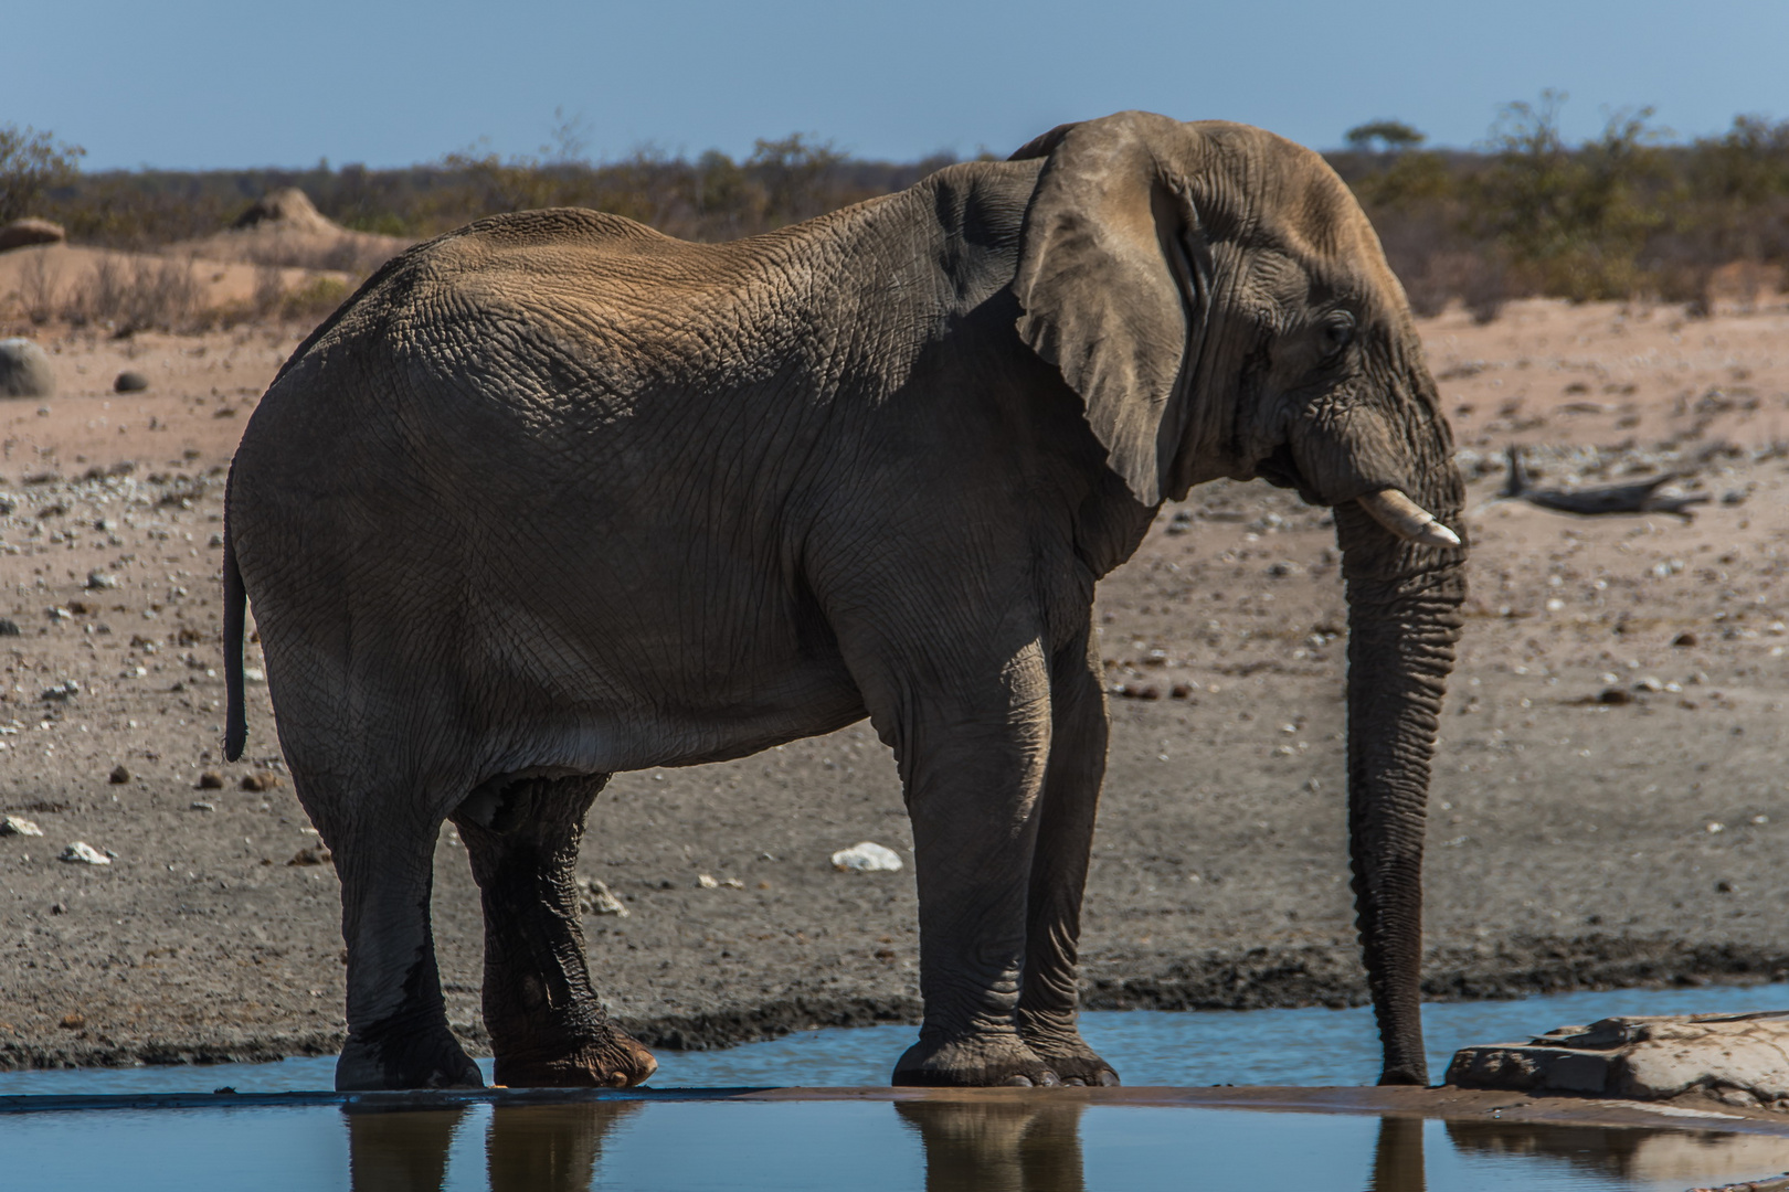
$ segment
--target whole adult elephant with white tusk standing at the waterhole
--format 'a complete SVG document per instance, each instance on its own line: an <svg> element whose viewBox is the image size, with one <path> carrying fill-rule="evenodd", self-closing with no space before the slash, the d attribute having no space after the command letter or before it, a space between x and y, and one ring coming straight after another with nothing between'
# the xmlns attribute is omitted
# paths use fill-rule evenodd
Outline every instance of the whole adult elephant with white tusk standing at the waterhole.
<svg viewBox="0 0 1789 1192"><path fill-rule="evenodd" d="M1123 113L728 245L592 211L386 264L236 452L243 595L335 852L340 1088L478 1085L429 936L485 908L506 1085L657 1067L590 990L572 863L615 770L869 717L900 763L925 1026L909 1085L1115 1083L1075 1024L1106 763L1093 584L1215 477L1336 509L1354 890L1385 1081L1426 1079L1424 797L1463 554L1447 424L1347 188L1233 123Z"/></svg>

